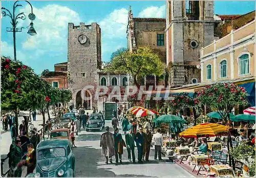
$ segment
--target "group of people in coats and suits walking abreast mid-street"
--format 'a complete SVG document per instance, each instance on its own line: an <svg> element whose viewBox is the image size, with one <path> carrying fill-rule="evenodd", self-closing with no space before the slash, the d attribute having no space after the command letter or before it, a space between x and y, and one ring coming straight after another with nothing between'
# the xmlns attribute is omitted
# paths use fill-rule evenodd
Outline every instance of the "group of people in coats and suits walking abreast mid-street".
<svg viewBox="0 0 256 178"><path fill-rule="evenodd" d="M157 131L154 135L150 131L150 123L146 121L144 131L141 125L137 132L137 124L134 121L129 120L124 116L122 120L122 128L125 135L125 141L119 133L118 120L114 116L112 119L112 126L114 133L110 132L110 128L105 127L106 132L102 133L100 139L100 147L102 147L101 154L106 158L106 164L112 163L112 156L115 155L116 164L118 162L122 164L123 147L126 147L129 162L136 163L135 160L135 145L138 150L138 163L142 164L143 160L149 162L149 155L151 150L152 142L155 143L155 160L162 160L161 158L161 145L163 143L163 137ZM136 127L136 128L135 128ZM128 132L127 132L128 131Z"/></svg>

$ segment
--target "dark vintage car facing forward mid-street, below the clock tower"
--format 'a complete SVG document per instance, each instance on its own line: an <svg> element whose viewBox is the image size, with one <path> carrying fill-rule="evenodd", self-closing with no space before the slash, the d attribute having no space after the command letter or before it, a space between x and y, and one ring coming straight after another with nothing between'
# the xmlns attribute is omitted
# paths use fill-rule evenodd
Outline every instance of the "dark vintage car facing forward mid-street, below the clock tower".
<svg viewBox="0 0 256 178"><path fill-rule="evenodd" d="M105 126L105 120L102 114L91 114L86 124L86 131L89 130L102 130Z"/></svg>

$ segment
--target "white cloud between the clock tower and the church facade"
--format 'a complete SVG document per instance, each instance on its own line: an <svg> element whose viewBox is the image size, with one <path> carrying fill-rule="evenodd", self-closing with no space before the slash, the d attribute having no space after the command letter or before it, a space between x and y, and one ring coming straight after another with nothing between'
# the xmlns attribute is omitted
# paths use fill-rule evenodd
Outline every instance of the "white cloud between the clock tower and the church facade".
<svg viewBox="0 0 256 178"><path fill-rule="evenodd" d="M99 22L102 38L123 38L126 36L127 23L128 10L115 9Z"/></svg>

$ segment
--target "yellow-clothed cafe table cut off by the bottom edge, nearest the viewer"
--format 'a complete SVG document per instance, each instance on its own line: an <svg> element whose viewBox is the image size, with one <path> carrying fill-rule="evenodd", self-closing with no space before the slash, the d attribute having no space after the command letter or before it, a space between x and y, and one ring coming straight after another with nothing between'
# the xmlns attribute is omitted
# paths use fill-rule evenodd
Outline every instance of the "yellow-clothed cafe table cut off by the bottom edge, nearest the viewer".
<svg viewBox="0 0 256 178"><path fill-rule="evenodd" d="M216 176L232 176L234 177L233 169L228 165L210 165L210 172Z"/></svg>

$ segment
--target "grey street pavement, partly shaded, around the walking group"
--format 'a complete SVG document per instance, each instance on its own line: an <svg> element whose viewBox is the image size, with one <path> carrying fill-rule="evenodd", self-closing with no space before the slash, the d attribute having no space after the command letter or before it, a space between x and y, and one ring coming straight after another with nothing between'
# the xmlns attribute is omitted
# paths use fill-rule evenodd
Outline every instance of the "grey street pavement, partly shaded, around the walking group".
<svg viewBox="0 0 256 178"><path fill-rule="evenodd" d="M19 123L23 120L23 117L19 118ZM40 129L38 124L42 123L42 117L37 116L36 121L32 121L35 127ZM110 131L113 132L111 121L105 121L105 126L110 126ZM162 155L163 161L154 160L155 150L154 147L150 151L150 162L143 162L143 164L129 163L127 158L127 151L124 148L122 154L122 165L115 165L115 156L112 157L113 164L105 164L105 158L101 155L100 137L102 131L85 131L81 128L78 136L75 140L76 148L72 148L76 159L76 177L194 177L184 168L177 164L170 163L169 159ZM125 140L123 131L120 128L119 132L122 133L122 138ZM5 158L9 152L9 146L11 144L10 131L2 134L1 138L1 158ZM135 147L136 162L138 158L137 148ZM8 170L8 160L4 164L4 172ZM26 169L24 169L23 175L26 175Z"/></svg>

